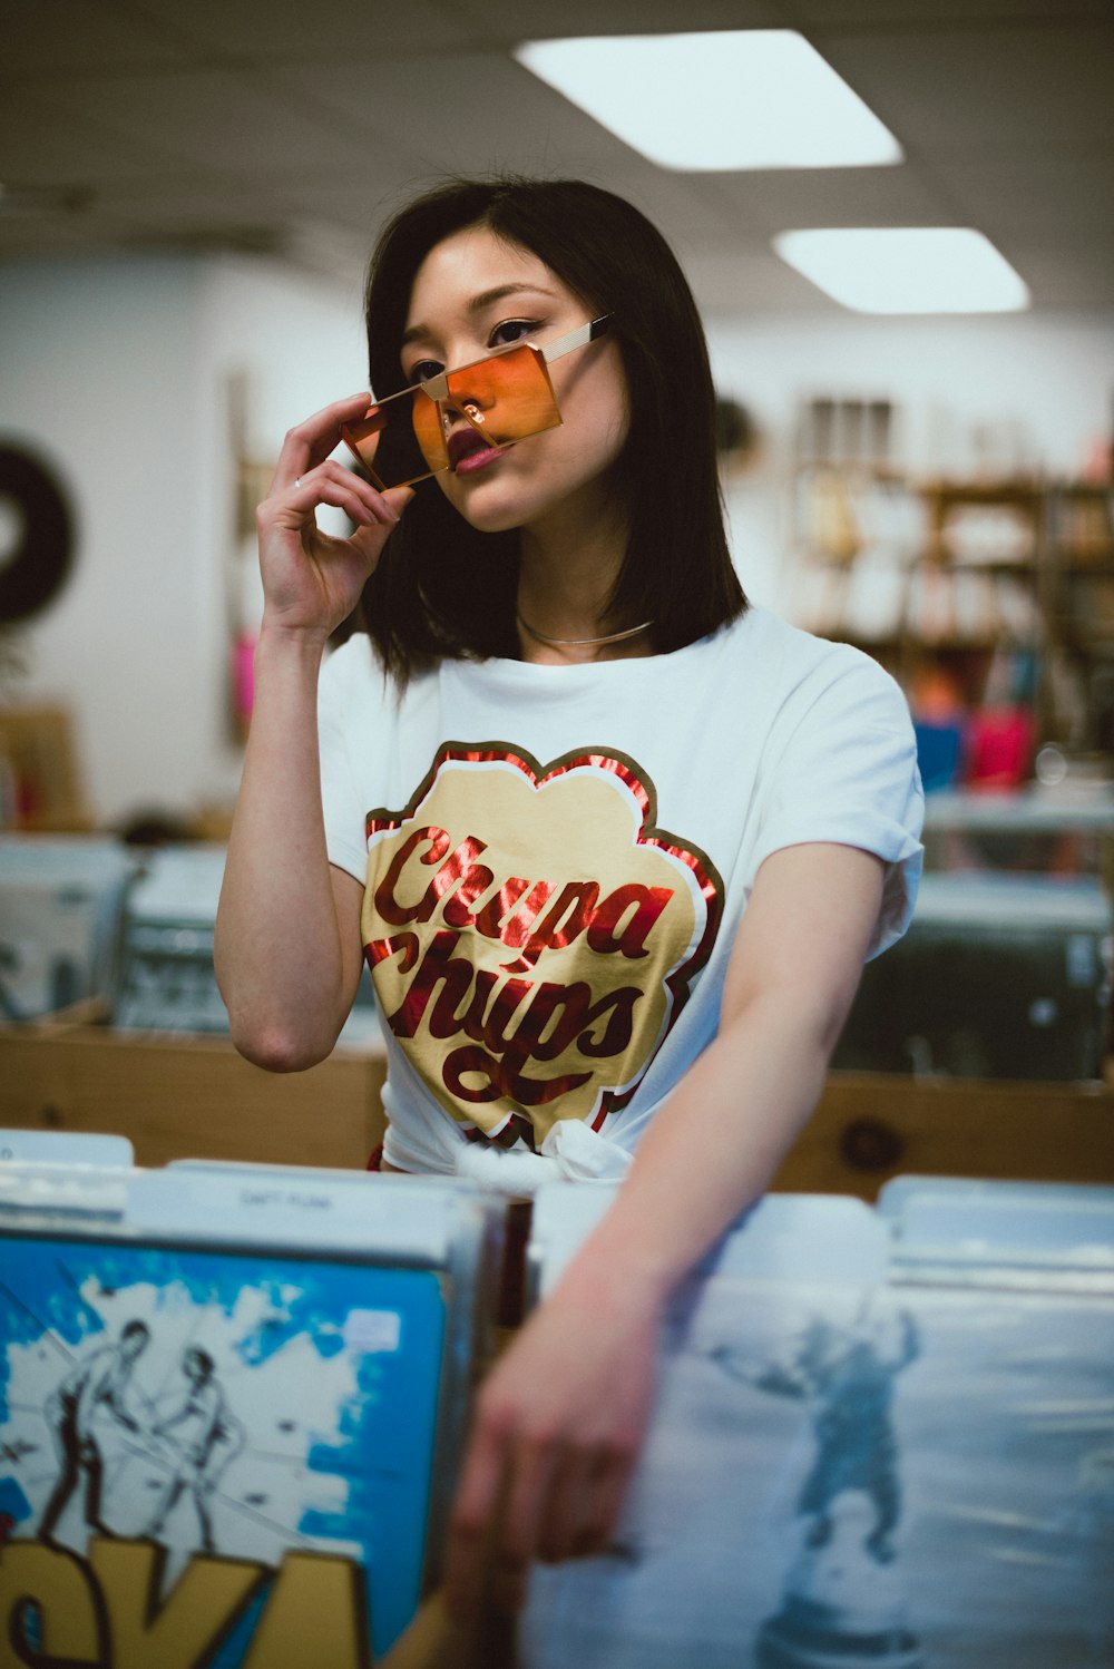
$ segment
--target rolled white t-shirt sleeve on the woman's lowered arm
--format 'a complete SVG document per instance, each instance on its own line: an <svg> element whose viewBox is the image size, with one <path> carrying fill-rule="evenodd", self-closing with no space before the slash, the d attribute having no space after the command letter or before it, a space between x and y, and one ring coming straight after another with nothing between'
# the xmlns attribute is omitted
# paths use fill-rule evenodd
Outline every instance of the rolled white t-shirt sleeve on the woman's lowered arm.
<svg viewBox="0 0 1114 1669"><path fill-rule="evenodd" d="M909 926L924 848L924 791L906 698L869 656L842 651L785 704L765 761L754 871L770 853L807 841L872 851L886 865L882 908L867 960Z"/></svg>

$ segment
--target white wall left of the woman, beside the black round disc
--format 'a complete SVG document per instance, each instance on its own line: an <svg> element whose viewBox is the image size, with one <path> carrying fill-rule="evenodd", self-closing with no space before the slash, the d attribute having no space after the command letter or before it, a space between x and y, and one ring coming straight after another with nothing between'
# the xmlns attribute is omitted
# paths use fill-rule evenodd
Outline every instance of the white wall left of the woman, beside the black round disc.
<svg viewBox="0 0 1114 1669"><path fill-rule="evenodd" d="M227 801L225 379L250 372L273 459L292 422L362 386L359 295L258 262L17 262L0 344L0 439L53 466L78 524L73 577L20 631L28 673L5 698L72 708L103 823Z"/></svg>

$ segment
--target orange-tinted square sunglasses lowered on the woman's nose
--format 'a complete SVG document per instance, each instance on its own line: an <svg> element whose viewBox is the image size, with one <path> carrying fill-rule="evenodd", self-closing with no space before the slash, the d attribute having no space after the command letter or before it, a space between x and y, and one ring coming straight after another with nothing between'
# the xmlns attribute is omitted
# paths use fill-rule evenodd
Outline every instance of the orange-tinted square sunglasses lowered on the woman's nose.
<svg viewBox="0 0 1114 1669"><path fill-rule="evenodd" d="M450 467L449 429L464 417L489 446L514 446L560 424L547 367L604 335L610 314L559 335L555 342L509 342L484 359L442 371L427 382L369 406L340 426L344 444L382 492L410 487Z"/></svg>

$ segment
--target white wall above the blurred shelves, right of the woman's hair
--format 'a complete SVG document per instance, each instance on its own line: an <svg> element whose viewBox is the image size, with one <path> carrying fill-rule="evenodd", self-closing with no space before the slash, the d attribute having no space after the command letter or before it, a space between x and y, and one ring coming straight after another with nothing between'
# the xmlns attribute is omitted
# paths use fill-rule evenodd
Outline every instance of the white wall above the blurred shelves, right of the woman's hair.
<svg viewBox="0 0 1114 1669"><path fill-rule="evenodd" d="M800 404L891 399L894 462L914 479L981 471L1074 477L1114 426L1114 314L1031 319L714 317L712 369L762 434L729 482L735 562L757 599L784 603L789 474Z"/></svg>

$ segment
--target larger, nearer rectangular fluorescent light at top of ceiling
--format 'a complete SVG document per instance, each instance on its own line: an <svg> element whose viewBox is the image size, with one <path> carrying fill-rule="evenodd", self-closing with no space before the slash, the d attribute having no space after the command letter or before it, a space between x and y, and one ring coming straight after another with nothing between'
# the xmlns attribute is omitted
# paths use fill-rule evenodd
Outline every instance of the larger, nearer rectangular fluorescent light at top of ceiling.
<svg viewBox="0 0 1114 1669"><path fill-rule="evenodd" d="M902 162L889 129L792 28L527 40L514 57L664 169Z"/></svg>

